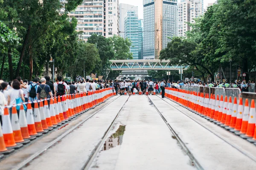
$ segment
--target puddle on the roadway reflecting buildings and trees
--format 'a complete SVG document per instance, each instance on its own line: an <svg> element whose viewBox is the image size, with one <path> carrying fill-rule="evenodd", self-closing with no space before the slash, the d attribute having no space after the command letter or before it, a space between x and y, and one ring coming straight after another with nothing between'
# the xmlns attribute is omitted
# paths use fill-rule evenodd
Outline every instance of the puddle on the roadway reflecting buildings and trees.
<svg viewBox="0 0 256 170"><path fill-rule="evenodd" d="M125 133L125 126L120 125L116 130L116 133L113 133L104 143L102 150L109 150L112 147L122 144L122 137Z"/></svg>

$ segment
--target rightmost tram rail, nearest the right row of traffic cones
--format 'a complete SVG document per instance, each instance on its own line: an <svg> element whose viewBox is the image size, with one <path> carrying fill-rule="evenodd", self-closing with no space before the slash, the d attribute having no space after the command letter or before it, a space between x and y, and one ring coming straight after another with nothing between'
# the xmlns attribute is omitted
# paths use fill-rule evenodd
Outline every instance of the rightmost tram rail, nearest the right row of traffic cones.
<svg viewBox="0 0 256 170"><path fill-rule="evenodd" d="M162 99L160 96L157 96L158 98ZM171 102L175 102L172 99L166 98ZM239 147L237 147L236 145L230 143L229 141L227 141L226 139L224 139L223 137L221 137L220 135L218 135L217 133L215 133L214 131L212 131L211 129L209 129L208 127L202 125L200 122L198 122L197 120L195 120L194 118L192 118L191 116L189 116L188 114L184 113L183 111L181 111L179 108L175 107L174 105L172 105L171 103L167 102L166 100L162 99L164 102L166 102L168 105L172 106L173 108L175 108L177 111L179 111L180 113L183 113L183 115L187 116L189 119L191 119L192 121L196 122L198 125L200 125L201 127L204 127L206 130L208 130L210 133L212 133L213 135L217 136L219 139L221 139L222 141L224 141L225 143L227 143L228 145L230 145L231 147L233 147L234 149L238 150L240 153L242 153L244 156L246 156L247 158L251 159L252 161L256 162L256 159L253 158L253 156L250 156L249 154L247 154L246 152L244 152L243 150L241 150ZM175 102L176 104L180 105L179 103ZM182 105L180 105L182 106ZM183 106L182 106L183 107ZM189 110L188 110L189 111Z"/></svg>

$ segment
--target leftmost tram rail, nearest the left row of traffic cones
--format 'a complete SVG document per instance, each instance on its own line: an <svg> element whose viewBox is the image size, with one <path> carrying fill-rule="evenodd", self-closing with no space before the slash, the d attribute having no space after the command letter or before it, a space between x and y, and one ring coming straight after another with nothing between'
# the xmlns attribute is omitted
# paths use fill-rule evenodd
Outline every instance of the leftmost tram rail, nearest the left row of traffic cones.
<svg viewBox="0 0 256 170"><path fill-rule="evenodd" d="M116 99L119 99L120 96L118 96ZM109 98L110 99L110 98ZM111 103L113 103L114 101L116 101L116 99L113 99L113 101L109 102L107 105L103 106L102 108L100 108L99 110L95 111L94 113L92 113L90 116L88 116L86 119L84 119L83 121L79 122L78 124L74 125L72 128L70 128L69 130L67 130L66 132L64 132L63 134L61 134L60 136L58 136L55 140L53 140L52 142L49 142L49 144L47 144L46 146L42 147L39 151L37 151L36 153L32 154L31 156L29 156L28 158L24 159L22 162L20 162L19 164L17 164L14 168L12 168L12 170L20 170L23 167L25 167L27 164L29 164L31 161L33 161L33 159L38 158L42 153L44 153L44 151L46 151L48 148L54 146L58 141L61 141L61 139L63 139L65 136L67 136L69 133L71 133L73 130L76 130L80 125L84 124L85 122L87 122L87 120L91 119L93 116L95 116L97 113L99 113L100 111L102 111L104 108L106 108L108 105L110 105ZM81 114L82 115L82 114ZM65 126L65 124L63 125Z"/></svg>

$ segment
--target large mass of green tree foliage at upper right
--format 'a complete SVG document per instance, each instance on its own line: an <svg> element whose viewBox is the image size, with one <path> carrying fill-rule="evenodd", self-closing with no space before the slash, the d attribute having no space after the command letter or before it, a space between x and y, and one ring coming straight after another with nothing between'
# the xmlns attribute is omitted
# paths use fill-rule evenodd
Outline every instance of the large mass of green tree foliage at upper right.
<svg viewBox="0 0 256 170"><path fill-rule="evenodd" d="M190 65L202 77L212 79L230 60L246 73L255 68L256 1L218 0L195 21L189 23L186 39L173 38L161 51L160 59Z"/></svg>

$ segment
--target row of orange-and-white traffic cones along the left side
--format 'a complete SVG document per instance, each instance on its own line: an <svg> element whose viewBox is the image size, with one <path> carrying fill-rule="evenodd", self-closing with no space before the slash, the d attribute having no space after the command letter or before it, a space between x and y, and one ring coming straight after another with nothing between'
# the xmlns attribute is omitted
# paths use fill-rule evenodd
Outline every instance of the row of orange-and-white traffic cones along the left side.
<svg viewBox="0 0 256 170"><path fill-rule="evenodd" d="M49 105L47 99L34 102L34 111L32 111L31 102L28 102L26 113L23 105L20 105L19 118L16 107L12 107L12 121L8 108L5 107L3 131L0 125L0 154L12 153L14 149L28 144L36 137L42 136L43 133L49 132L88 109L94 108L113 95L111 88L105 88L87 94L58 96L49 99Z"/></svg>

